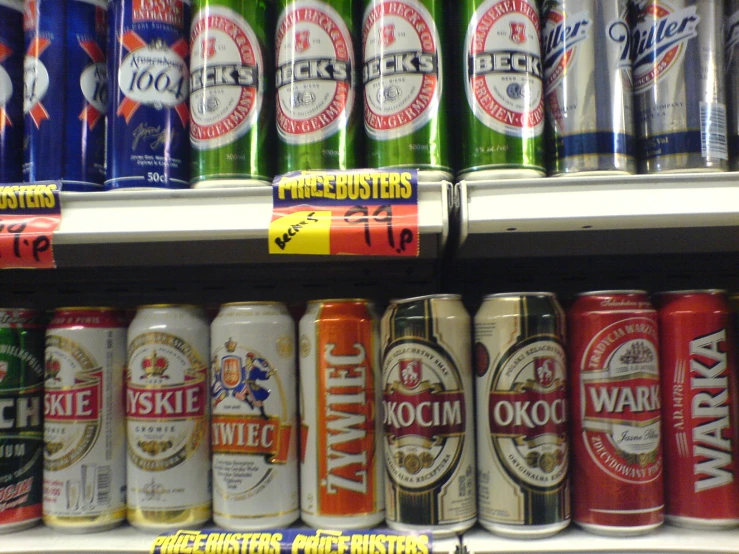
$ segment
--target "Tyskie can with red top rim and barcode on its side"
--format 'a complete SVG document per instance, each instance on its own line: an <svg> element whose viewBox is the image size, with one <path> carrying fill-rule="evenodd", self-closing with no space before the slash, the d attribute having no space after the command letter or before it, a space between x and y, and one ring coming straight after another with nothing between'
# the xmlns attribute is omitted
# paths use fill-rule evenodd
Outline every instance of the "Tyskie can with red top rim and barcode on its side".
<svg viewBox="0 0 739 554"><path fill-rule="evenodd" d="M85 533L126 519L126 322L111 308L57 308L46 330L43 519Z"/></svg>

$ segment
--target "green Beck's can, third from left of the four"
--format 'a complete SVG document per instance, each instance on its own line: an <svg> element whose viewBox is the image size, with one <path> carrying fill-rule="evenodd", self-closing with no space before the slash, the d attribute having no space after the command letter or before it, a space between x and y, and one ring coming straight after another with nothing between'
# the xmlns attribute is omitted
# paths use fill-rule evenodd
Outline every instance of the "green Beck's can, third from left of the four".
<svg viewBox="0 0 739 554"><path fill-rule="evenodd" d="M365 0L362 83L368 167L452 176L446 7L434 0Z"/></svg>

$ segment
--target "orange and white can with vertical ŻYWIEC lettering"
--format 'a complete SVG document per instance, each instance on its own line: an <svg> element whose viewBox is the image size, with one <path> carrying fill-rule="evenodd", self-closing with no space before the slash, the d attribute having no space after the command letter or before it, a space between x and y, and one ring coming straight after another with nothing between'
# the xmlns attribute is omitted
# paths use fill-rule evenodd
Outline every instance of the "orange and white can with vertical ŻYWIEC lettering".
<svg viewBox="0 0 739 554"><path fill-rule="evenodd" d="M300 517L311 527L385 518L378 326L362 299L312 301L300 319Z"/></svg>

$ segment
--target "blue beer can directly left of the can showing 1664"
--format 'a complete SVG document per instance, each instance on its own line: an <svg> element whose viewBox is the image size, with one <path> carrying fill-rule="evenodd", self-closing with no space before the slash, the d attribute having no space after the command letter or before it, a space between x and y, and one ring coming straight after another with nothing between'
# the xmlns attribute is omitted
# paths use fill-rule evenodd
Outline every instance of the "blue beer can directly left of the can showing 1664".
<svg viewBox="0 0 739 554"><path fill-rule="evenodd" d="M26 0L23 180L102 190L107 0Z"/></svg>

